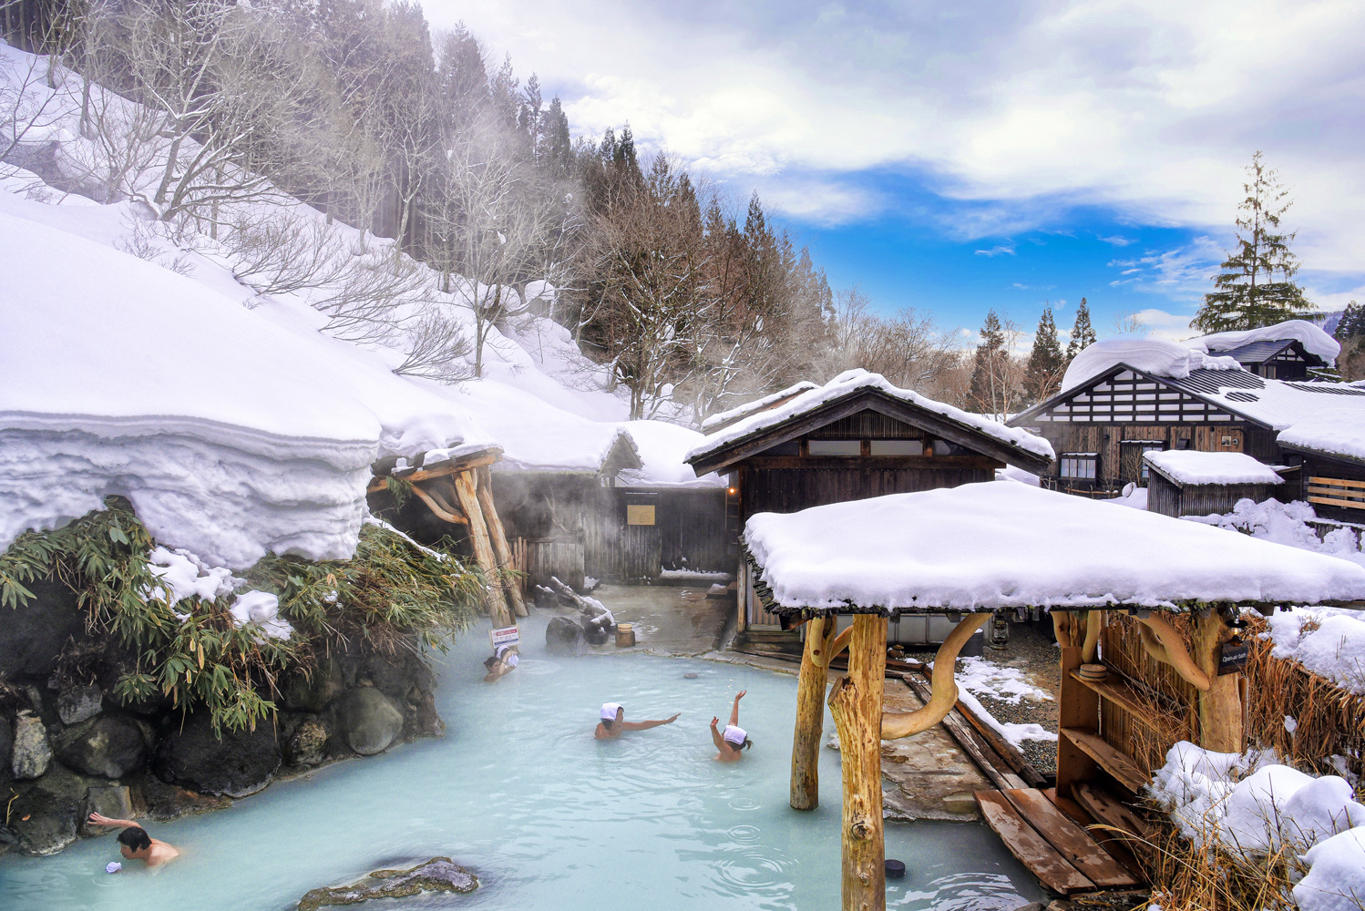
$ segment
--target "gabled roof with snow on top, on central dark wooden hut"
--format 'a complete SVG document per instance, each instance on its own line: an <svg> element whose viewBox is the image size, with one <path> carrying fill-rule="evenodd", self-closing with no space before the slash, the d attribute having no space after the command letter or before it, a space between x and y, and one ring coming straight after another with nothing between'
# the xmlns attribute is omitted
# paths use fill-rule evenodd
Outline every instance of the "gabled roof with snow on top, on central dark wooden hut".
<svg viewBox="0 0 1365 911"><path fill-rule="evenodd" d="M1041 471L1054 455L1046 439L1028 431L900 389L880 374L850 370L784 405L751 415L711 434L688 453L687 461L698 473L719 471L864 409L920 427L951 443L1026 471Z"/></svg>

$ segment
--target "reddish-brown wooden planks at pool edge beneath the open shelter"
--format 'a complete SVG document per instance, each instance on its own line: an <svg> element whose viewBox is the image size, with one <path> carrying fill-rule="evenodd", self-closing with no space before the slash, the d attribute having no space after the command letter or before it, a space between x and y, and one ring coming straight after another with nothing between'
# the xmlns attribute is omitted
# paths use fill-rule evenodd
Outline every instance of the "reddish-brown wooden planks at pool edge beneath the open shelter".
<svg viewBox="0 0 1365 911"><path fill-rule="evenodd" d="M1091 825L1093 817L1104 825L1121 824L1133 831L1130 826L1140 826L1141 820L1103 791L1081 788L1085 806L1058 798L1051 788L977 791L976 803L1010 854L1048 889L1074 895L1140 885L1136 863L1114 836L1092 835L1082 825ZM1091 805L1104 816L1088 811ZM1141 829L1134 832L1141 833Z"/></svg>

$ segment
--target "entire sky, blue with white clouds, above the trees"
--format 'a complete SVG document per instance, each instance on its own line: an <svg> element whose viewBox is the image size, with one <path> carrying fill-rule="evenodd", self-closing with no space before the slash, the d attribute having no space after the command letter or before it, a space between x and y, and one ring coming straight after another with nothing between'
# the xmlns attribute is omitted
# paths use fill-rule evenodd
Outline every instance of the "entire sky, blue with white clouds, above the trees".
<svg viewBox="0 0 1365 911"><path fill-rule="evenodd" d="M571 125L629 121L737 203L758 190L838 286L942 327L1043 301L1069 329L1189 334L1265 153L1309 297L1365 301L1357 0L425 0Z"/></svg>

